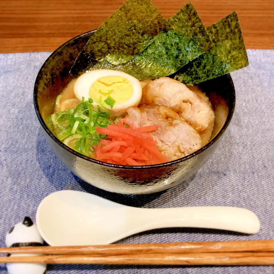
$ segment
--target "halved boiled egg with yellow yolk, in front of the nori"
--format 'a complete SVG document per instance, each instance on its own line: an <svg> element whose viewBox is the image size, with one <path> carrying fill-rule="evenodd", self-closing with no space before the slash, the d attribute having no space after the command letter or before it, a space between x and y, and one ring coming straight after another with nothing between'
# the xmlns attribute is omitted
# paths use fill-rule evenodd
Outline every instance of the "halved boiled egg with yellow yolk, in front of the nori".
<svg viewBox="0 0 274 274"><path fill-rule="evenodd" d="M92 70L82 74L74 84L74 94L81 101L91 98L94 110L110 111L113 116L126 113L130 106L138 106L142 86L133 76L110 69ZM102 109L103 108L103 109Z"/></svg>

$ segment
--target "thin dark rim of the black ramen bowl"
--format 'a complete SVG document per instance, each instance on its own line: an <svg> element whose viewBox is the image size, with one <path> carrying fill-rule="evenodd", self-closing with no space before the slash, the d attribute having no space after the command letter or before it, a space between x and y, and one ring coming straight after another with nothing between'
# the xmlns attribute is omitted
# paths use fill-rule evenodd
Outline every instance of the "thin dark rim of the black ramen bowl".
<svg viewBox="0 0 274 274"><path fill-rule="evenodd" d="M82 158L84 160L87 160L89 162L92 162L94 164L99 164L101 166L107 166L107 167L111 167L111 168L119 168L119 169L132 169L132 170L136 170L136 169L150 169L150 168L161 168L161 167L167 167L167 166L172 166L172 165L176 165L180 162L184 162L198 154L200 154L201 152L203 152L204 150L206 150L207 148L209 148L212 144L214 144L221 136L222 134L225 132L227 126L229 125L234 109L235 109L235 87L234 87L234 83L233 80L231 78L231 75L225 74L226 76L228 76L230 83L232 85L233 88L233 94L234 94L234 98L233 98L233 104L232 106L229 107L228 110L228 115L227 118L225 120L225 123L223 124L221 130L218 132L218 134L210 141L208 142L205 146L203 146L202 148L196 150L195 152L183 157L183 158L179 158L177 160L173 160L170 162L166 162L166 163L162 163L162 164L156 164L156 165L147 165L147 166L123 166L123 165L117 165L117 164L109 164L106 162L102 162L93 158L89 158L87 156L84 156L83 154L80 154L79 152L76 152L75 150L71 149L70 147L68 147L67 145L65 145L63 142L61 142L52 132L51 130L47 127L47 125L45 124L41 112L39 110L39 106L38 106L38 83L41 81L42 77L40 77L40 74L42 74L43 69L45 68L47 62L54 57L57 52L59 52L59 50L64 47L65 45L69 44L70 42L73 42L75 39L86 36L88 34L94 33L96 31L96 29L92 30L92 31L88 31L85 33L82 33L80 35L77 35L75 37L73 37L72 39L68 40L67 42L65 42L64 44L62 44L60 47L58 47L55 51L53 51L53 53L51 53L51 55L47 58L47 60L43 63L42 67L40 68L37 77L35 79L35 84L34 84L34 90L33 90L33 101L34 101L34 108L35 108L35 112L37 114L38 120L42 126L42 128L45 130L45 132L47 132L47 134L58 144L60 145L62 148L64 148L65 150L67 150L68 152L72 153L74 156L77 156L79 158Z"/></svg>

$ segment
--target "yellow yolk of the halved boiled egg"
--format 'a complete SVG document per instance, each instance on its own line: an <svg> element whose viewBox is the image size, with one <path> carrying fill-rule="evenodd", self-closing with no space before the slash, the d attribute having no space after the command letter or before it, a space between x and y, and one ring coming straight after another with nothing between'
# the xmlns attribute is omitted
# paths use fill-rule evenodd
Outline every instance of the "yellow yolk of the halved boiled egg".
<svg viewBox="0 0 274 274"><path fill-rule="evenodd" d="M121 104L131 98L133 87L131 82L122 76L104 76L98 78L90 88L90 98L93 100L106 100L111 96L115 104Z"/></svg>

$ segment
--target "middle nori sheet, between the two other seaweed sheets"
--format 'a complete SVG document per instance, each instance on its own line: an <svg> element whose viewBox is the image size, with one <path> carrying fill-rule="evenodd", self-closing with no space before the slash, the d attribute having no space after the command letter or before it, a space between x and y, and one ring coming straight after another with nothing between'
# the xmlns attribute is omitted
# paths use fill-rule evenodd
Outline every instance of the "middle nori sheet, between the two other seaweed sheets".
<svg viewBox="0 0 274 274"><path fill-rule="evenodd" d="M213 44L193 5L188 2L168 20L162 32L142 53L122 65L98 63L93 69L121 70L137 79L168 76L205 53Z"/></svg>

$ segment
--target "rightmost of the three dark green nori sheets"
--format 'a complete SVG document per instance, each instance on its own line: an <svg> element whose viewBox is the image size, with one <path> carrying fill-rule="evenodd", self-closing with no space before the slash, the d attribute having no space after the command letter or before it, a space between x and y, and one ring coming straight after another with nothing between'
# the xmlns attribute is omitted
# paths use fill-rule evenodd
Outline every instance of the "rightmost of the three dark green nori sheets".
<svg viewBox="0 0 274 274"><path fill-rule="evenodd" d="M174 79L193 85L248 65L236 12L207 27L207 32L215 45L176 72Z"/></svg>

